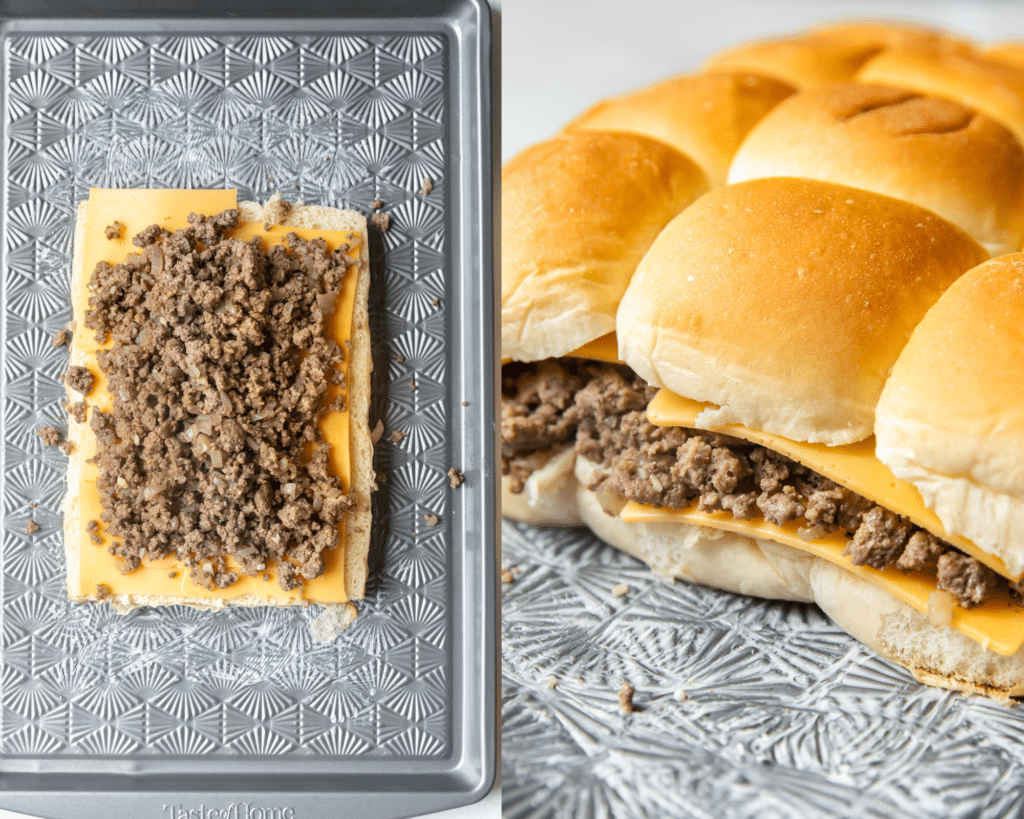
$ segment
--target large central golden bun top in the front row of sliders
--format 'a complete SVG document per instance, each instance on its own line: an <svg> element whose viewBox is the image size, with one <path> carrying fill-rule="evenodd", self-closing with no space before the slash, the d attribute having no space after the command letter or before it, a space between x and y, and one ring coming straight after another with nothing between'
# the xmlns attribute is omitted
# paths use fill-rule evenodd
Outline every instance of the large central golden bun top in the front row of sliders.
<svg viewBox="0 0 1024 819"><path fill-rule="evenodd" d="M795 440L871 434L890 369L922 316L987 257L916 205L771 178L676 217L623 297L618 354L649 383Z"/></svg>

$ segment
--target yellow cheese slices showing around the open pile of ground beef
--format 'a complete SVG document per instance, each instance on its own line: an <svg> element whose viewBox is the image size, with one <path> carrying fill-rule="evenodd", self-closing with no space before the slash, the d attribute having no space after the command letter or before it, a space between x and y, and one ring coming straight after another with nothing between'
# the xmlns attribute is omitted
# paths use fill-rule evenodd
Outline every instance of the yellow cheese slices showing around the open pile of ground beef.
<svg viewBox="0 0 1024 819"><path fill-rule="evenodd" d="M85 327L85 311L88 308L88 284L99 261L117 264L124 261L130 253L138 249L131 244L131 239L151 224L160 224L169 230L187 226L189 212L212 215L227 208L237 207L238 197L234 190L109 190L93 188L86 206L85 236L82 242L82 282L78 290L72 294L75 320L78 330L72 343L72 357L85 356L85 364L96 379L92 393L86 399L91 406L97 406L104 412L112 407L112 396L106 390L106 380L96 363L95 353L99 349L95 341L95 333ZM125 229L121 238L108 240L104 228L114 222L121 222ZM264 230L260 224L241 223L231 235L243 241L249 241L259 235L264 247L269 247L284 241L289 232L297 233L301 239L322 238L331 248L349 242L349 233L331 230L312 230L295 227L271 227ZM361 238L356 238L361 239ZM355 244L355 243L352 243ZM358 257L358 250L350 251L353 258ZM339 295L332 314L328 332L330 337L341 344L351 338L352 313L355 302L357 275L354 269L345 278L342 293ZM342 365L347 370L347 363ZM341 388L329 384L328 398L333 398ZM91 410L90 418L91 418ZM324 417L319 427L325 439L331 446L330 463L332 471L339 477L347 490L350 480L350 444L348 435L348 413L331 413ZM76 435L78 448L76 458L89 459L95 455L96 441L88 424L76 425L70 422ZM100 522L98 532L101 543L92 544L86 526L90 520L99 520L102 507L96 489L98 467L85 464L82 468L82 479L77 487L69 487L78 493L79 503L79 551L81 567L78 580L78 594L83 597L95 594L96 586L102 584L114 594L152 595L158 597L189 597L204 599L230 600L244 595L255 595L260 598L274 600L298 600L304 598L314 603L344 602L344 541L337 549L324 555L327 566L325 572L312 580L307 580L299 589L284 591L276 581L276 572L271 564L266 573L270 580L263 579L263 573L256 577L240 575L239 580L227 589L204 589L188 578L188 573L181 564L173 558L143 563L130 574L121 574L119 561L108 551L112 535L103 532ZM339 526L339 535L344 535ZM234 568L233 561L227 561ZM176 572L170 577L170 572ZM76 590L70 590L72 592Z"/></svg>

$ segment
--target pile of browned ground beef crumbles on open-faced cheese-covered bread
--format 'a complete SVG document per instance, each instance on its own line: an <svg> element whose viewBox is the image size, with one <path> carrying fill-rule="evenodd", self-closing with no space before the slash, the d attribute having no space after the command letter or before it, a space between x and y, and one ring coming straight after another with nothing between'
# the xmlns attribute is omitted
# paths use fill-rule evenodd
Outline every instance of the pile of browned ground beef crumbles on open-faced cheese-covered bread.
<svg viewBox="0 0 1024 819"><path fill-rule="evenodd" d="M86 326L113 341L97 358L114 397L90 418L97 488L123 571L175 556L222 589L276 562L290 590L324 571L354 505L316 425L337 408L325 391L344 353L325 314L351 260L294 233L267 252L225 238L238 219L153 225L140 253L96 266Z"/></svg>

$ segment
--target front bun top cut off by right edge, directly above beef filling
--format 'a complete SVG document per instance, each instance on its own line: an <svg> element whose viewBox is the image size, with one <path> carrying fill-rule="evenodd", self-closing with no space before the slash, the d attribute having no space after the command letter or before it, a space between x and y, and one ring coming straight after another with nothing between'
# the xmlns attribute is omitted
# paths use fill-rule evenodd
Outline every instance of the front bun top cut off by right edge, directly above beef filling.
<svg viewBox="0 0 1024 819"><path fill-rule="evenodd" d="M950 532L1024 571L1024 254L965 273L879 401L876 454Z"/></svg>

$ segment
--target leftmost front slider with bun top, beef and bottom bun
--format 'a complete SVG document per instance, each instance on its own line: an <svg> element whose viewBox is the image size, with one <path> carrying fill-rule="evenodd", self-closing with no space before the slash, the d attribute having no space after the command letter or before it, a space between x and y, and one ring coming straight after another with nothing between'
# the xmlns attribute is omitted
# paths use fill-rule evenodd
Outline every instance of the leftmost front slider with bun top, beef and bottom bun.
<svg viewBox="0 0 1024 819"><path fill-rule="evenodd" d="M575 393L615 357L615 310L662 228L709 187L671 145L580 132L502 173L502 513L574 525Z"/></svg>

